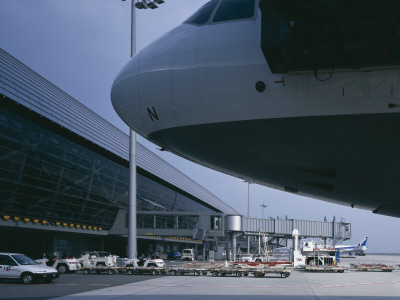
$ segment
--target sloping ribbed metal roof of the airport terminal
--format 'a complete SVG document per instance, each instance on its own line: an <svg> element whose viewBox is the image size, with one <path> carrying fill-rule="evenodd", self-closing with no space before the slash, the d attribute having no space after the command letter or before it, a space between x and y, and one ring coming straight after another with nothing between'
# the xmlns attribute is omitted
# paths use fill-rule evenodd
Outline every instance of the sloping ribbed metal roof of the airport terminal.
<svg viewBox="0 0 400 300"><path fill-rule="evenodd" d="M100 147L129 160L129 136L0 48L0 92ZM226 213L239 215L165 160L137 143L136 164Z"/></svg>

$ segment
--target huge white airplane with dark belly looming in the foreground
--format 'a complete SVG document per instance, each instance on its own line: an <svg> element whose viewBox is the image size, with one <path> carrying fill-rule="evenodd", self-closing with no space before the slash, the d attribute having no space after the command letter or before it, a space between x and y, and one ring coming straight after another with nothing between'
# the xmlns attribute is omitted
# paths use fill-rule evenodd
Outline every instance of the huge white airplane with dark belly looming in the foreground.
<svg viewBox="0 0 400 300"><path fill-rule="evenodd" d="M400 217L399 24L400 1L212 0L137 53L111 101L162 150Z"/></svg>

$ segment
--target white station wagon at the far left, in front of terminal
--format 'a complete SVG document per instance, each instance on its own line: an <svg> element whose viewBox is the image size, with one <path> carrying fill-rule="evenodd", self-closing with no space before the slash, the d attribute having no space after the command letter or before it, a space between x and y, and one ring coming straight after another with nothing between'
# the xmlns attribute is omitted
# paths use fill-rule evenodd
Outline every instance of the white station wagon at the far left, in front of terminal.
<svg viewBox="0 0 400 300"><path fill-rule="evenodd" d="M26 284L33 281L51 282L58 278L56 269L38 264L19 253L0 253L0 280L20 279Z"/></svg>

